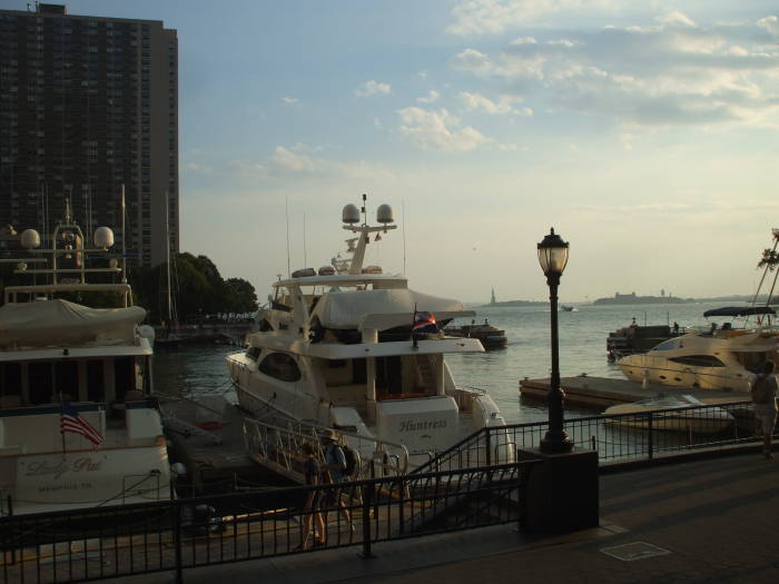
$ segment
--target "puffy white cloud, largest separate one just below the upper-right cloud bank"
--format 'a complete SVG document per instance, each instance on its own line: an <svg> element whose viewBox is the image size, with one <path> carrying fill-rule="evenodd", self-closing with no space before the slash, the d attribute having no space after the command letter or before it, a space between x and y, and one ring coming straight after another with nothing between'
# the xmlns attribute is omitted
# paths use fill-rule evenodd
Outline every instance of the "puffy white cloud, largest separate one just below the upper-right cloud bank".
<svg viewBox="0 0 779 584"><path fill-rule="evenodd" d="M516 149L513 145L487 138L471 126L460 128L460 118L444 108L434 111L411 107L397 110L397 115L401 117L400 133L423 150L466 152L483 146L499 150Z"/></svg>

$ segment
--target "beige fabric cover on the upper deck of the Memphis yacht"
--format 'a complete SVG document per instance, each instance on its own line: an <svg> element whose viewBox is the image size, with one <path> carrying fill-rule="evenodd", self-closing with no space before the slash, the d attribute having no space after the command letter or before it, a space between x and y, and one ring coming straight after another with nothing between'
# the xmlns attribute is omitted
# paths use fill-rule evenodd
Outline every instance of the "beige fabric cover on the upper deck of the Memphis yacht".
<svg viewBox="0 0 779 584"><path fill-rule="evenodd" d="M144 318L139 306L89 308L62 299L7 304L0 307L0 347L132 343L135 326Z"/></svg>

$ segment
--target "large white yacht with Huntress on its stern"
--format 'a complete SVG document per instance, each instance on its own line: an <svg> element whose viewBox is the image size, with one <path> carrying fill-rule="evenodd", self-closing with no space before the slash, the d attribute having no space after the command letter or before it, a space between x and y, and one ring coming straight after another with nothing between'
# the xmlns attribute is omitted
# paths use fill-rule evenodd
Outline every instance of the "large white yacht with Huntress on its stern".
<svg viewBox="0 0 779 584"><path fill-rule="evenodd" d="M368 438L361 444L403 445L412 468L480 428L504 426L492 398L458 387L444 360L445 354L484 350L476 338L437 329L474 313L458 300L408 289L403 276L363 266L371 235L395 228L389 206L378 207L378 227L357 225L354 205L344 208L343 220L357 236L347 240L352 258L274 283L269 306L257 315L258 331L247 335L245 350L227 357L240 406L256 417ZM437 331L415 333L415 323L418 330L431 315ZM359 454L369 459L373 453ZM491 456L513 461L514 447L506 439Z"/></svg>

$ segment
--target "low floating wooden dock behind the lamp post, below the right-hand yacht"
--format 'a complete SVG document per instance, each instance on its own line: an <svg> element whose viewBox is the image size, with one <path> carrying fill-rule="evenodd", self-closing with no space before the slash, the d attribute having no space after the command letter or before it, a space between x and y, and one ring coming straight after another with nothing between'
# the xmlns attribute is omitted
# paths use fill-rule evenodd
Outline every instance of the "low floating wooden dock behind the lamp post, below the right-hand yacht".
<svg viewBox="0 0 779 584"><path fill-rule="evenodd" d="M550 387L550 379L522 379L520 394L522 397L545 399ZM729 402L748 402L748 394L740 392L724 392L714 389L700 389L698 387L670 387L668 385L649 384L643 388L640 383L628 379L611 379L608 377L590 377L580 375L576 377L562 377L560 385L565 392L565 402L585 406L603 407L617 404L627 404L649 399L659 394L667 396L691 395L703 404L723 404Z"/></svg>

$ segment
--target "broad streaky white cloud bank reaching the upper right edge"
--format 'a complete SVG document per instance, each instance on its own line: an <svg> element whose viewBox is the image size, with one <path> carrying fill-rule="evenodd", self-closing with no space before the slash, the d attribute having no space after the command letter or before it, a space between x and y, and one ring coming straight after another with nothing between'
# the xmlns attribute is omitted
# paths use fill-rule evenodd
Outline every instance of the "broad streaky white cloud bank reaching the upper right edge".
<svg viewBox="0 0 779 584"><path fill-rule="evenodd" d="M757 30L772 26L779 21L767 17L707 28L674 11L643 27L609 27L562 40L521 37L491 53L469 48L452 66L500 81L507 88L503 93L529 106L535 99L552 110L596 113L632 130L775 127L779 46L767 44ZM471 101L474 109L490 109Z"/></svg>

